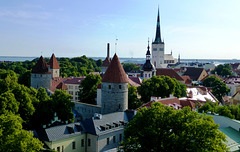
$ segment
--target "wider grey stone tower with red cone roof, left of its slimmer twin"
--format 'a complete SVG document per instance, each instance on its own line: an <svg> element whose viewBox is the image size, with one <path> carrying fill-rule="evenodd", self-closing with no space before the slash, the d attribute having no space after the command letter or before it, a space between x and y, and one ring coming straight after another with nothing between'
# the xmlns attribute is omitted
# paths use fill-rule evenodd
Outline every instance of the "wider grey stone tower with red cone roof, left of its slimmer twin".
<svg viewBox="0 0 240 152"><path fill-rule="evenodd" d="M51 78L50 67L41 56L31 72L31 87L35 89L40 87L51 89Z"/></svg>

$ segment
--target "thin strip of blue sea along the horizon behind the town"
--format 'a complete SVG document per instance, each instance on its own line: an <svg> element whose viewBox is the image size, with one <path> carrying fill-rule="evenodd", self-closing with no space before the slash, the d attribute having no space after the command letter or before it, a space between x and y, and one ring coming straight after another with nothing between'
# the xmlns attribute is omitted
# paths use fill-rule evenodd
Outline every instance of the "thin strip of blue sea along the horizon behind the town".
<svg viewBox="0 0 240 152"><path fill-rule="evenodd" d="M37 57L24 57L24 56L0 56L0 62L23 62L23 61L32 61ZM89 57L94 60L102 59L105 57ZM145 62L145 58L119 58L122 63L138 63L143 64ZM238 59L181 59L181 62L199 62L199 63L214 63L215 65L225 64L225 63L240 63Z"/></svg>

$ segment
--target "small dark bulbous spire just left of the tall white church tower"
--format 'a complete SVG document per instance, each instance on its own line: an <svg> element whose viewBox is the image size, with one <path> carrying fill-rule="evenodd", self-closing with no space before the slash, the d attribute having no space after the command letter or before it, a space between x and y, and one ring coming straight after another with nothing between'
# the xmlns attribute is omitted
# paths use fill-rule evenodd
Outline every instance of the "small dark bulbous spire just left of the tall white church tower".
<svg viewBox="0 0 240 152"><path fill-rule="evenodd" d="M141 77L144 79L149 79L153 75L156 75L156 69L154 65L151 63L151 54L150 54L150 47L149 47L149 40L148 40L148 47L147 47L147 53L146 53L146 62L143 64L141 69Z"/></svg>

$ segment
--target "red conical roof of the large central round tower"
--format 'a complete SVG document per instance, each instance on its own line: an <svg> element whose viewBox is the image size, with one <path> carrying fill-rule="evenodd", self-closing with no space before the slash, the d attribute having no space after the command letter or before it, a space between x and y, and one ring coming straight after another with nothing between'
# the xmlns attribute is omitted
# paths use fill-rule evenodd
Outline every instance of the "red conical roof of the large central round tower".
<svg viewBox="0 0 240 152"><path fill-rule="evenodd" d="M128 78L116 53L103 75L102 82L128 83Z"/></svg>

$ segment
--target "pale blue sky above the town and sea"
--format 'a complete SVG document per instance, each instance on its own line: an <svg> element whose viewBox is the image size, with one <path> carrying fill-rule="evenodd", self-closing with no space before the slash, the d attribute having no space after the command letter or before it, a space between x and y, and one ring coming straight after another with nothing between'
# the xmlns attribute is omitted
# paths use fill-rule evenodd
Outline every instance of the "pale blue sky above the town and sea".
<svg viewBox="0 0 240 152"><path fill-rule="evenodd" d="M165 53L240 59L240 0L1 0L0 56L145 58L158 7Z"/></svg>

